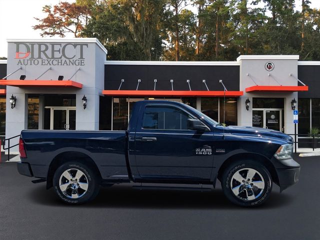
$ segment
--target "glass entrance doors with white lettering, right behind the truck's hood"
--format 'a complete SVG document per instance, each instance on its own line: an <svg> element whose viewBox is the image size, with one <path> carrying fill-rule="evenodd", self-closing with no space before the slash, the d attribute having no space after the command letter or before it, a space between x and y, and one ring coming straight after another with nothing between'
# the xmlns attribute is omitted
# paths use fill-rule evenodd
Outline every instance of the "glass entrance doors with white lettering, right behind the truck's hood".
<svg viewBox="0 0 320 240"><path fill-rule="evenodd" d="M252 126L283 131L283 109L252 109Z"/></svg>

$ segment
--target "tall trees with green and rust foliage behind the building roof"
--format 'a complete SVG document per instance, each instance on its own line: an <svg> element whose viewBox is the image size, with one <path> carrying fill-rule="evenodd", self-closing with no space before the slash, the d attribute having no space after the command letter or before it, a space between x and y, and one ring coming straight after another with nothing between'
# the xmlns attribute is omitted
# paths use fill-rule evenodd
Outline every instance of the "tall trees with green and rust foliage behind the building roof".
<svg viewBox="0 0 320 240"><path fill-rule="evenodd" d="M96 37L112 60L235 60L240 54L320 60L320 10L310 2L76 0L44 6L47 16L36 18L34 29Z"/></svg>

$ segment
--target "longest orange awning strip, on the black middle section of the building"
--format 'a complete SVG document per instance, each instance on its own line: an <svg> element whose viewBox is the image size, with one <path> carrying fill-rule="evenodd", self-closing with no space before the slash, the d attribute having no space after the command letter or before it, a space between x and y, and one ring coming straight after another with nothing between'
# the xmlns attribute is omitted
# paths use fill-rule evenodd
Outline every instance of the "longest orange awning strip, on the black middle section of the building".
<svg viewBox="0 0 320 240"><path fill-rule="evenodd" d="M102 90L108 96L223 96L223 91ZM225 96L242 96L243 91L225 91Z"/></svg>

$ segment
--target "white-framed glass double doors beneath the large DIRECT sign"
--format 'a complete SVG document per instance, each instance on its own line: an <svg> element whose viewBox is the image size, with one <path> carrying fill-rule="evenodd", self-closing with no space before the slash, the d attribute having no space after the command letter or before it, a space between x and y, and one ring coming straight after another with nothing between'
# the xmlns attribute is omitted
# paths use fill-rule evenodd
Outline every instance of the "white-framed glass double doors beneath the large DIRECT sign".
<svg viewBox="0 0 320 240"><path fill-rule="evenodd" d="M75 130L75 107L50 107L50 130Z"/></svg>

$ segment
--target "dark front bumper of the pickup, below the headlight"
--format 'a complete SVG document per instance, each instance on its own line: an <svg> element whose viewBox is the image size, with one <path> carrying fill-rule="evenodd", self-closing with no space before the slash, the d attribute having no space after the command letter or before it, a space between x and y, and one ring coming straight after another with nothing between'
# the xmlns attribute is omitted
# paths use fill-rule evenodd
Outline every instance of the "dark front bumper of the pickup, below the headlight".
<svg viewBox="0 0 320 240"><path fill-rule="evenodd" d="M300 164L297 163L293 158L284 160L278 160L276 164L276 173L278 175L278 185L280 191L294 185L299 180Z"/></svg>

